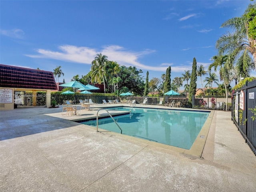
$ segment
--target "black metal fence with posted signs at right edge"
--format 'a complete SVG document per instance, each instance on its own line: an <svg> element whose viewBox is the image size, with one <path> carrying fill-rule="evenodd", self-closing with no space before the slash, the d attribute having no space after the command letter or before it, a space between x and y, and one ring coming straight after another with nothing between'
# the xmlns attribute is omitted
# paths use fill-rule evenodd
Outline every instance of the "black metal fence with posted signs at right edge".
<svg viewBox="0 0 256 192"><path fill-rule="evenodd" d="M256 155L256 80L236 90L232 98L232 120Z"/></svg>

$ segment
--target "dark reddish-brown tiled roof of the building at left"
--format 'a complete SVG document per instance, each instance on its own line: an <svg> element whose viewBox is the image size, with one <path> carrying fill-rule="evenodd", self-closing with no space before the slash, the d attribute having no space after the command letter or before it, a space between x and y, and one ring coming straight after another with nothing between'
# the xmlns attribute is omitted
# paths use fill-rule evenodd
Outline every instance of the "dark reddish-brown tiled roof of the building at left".
<svg viewBox="0 0 256 192"><path fill-rule="evenodd" d="M0 64L0 87L56 90L56 82L50 71Z"/></svg>

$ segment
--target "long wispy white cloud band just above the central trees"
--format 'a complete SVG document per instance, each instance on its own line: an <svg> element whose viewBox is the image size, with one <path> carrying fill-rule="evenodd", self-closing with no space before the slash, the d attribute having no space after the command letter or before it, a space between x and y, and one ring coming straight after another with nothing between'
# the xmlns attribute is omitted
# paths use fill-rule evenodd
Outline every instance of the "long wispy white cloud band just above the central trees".
<svg viewBox="0 0 256 192"><path fill-rule="evenodd" d="M95 50L88 47L76 47L72 45L64 45L58 47L59 51L51 51L38 49L38 55L26 55L31 58L50 58L55 60L62 60L65 62L75 62L82 64L91 64L92 60L98 53L108 56L108 60L116 61L121 66L136 66L139 69L166 71L166 67L162 66L147 66L141 64L138 59L147 54L155 52L154 50L144 50L141 52L132 52L125 50L118 45L104 46L102 50Z"/></svg>

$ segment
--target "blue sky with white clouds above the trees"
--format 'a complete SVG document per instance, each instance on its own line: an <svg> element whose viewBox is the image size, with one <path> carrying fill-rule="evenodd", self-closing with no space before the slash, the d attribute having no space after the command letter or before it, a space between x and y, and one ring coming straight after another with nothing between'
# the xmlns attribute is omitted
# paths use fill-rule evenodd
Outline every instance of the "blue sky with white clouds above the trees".
<svg viewBox="0 0 256 192"><path fill-rule="evenodd" d="M216 40L228 31L220 25L241 16L250 3L1 1L0 63L47 71L61 66L59 82L69 82L76 74L86 75L102 53L121 66L141 69L144 78L148 70L149 80L171 66L173 79L191 72L194 57L207 69L217 54ZM199 77L197 86L202 87Z"/></svg>

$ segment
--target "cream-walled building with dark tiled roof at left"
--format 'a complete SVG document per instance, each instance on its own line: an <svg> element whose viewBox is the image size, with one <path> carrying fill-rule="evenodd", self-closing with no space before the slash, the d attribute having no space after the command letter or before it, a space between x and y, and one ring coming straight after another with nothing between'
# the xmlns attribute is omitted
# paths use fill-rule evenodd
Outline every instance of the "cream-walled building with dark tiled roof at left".
<svg viewBox="0 0 256 192"><path fill-rule="evenodd" d="M51 90L57 89L52 72L0 64L0 110L14 109L17 96L22 97L26 91L33 92L33 106L36 106L36 92L45 91L46 107L50 107Z"/></svg>

